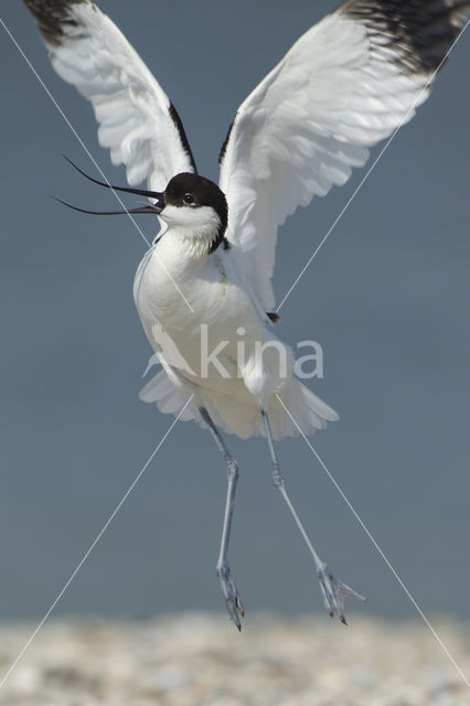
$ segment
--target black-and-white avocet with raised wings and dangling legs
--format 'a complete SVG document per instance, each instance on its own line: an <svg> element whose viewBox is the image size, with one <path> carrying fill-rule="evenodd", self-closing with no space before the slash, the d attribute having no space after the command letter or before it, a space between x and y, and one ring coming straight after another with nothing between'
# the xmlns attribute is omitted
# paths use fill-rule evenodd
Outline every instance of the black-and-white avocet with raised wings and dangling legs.
<svg viewBox="0 0 470 706"><path fill-rule="evenodd" d="M470 3L343 2L241 105L220 153L217 185L197 173L175 107L93 0L24 2L55 71L90 100L99 142L114 164L126 165L130 186L88 179L150 200L102 214L147 213L160 221L133 286L162 366L140 396L209 429L223 456L228 482L216 570L232 620L239 630L244 607L228 564L238 468L221 430L266 437L274 483L314 560L325 608L345 622L344 599L365 599L314 549L274 443L338 419L296 377L292 353L274 332L277 231L299 205L344 184L352 168L364 165L368 148L415 115ZM147 190L136 189L145 180Z"/></svg>

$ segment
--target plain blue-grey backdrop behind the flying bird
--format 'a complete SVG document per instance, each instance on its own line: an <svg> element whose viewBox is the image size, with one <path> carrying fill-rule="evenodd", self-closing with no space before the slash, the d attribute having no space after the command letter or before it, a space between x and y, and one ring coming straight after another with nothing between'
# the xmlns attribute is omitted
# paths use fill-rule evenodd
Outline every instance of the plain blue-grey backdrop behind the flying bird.
<svg viewBox="0 0 470 706"><path fill-rule="evenodd" d="M103 0L175 103L200 171L234 113L332 1ZM89 106L50 67L19 0L2 18L98 160ZM145 244L61 154L82 147L0 28L0 617L51 605L172 419L139 402L150 349L131 286ZM470 35L403 129L282 310L281 336L324 347L311 386L341 414L313 443L428 612L470 617ZM377 152L375 152L377 153ZM280 299L364 172L282 228ZM130 200L130 203L132 200ZM153 222L141 218L150 238ZM306 548L273 489L261 440L239 461L232 566L249 611L322 610ZM370 598L360 610L414 617L389 569L303 440L279 448L320 553ZM222 610L214 575L225 478L207 434L169 436L56 612L140 616Z"/></svg>

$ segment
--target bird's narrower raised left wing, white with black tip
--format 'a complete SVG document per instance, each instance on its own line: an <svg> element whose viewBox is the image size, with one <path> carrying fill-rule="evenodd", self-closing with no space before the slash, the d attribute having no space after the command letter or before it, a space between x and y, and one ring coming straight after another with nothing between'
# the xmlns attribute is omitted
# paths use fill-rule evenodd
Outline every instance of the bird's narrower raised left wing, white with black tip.
<svg viewBox="0 0 470 706"><path fill-rule="evenodd" d="M172 176L195 172L174 106L137 52L92 0L24 0L38 20L52 64L88 98L102 147L126 164L129 184L163 191Z"/></svg>

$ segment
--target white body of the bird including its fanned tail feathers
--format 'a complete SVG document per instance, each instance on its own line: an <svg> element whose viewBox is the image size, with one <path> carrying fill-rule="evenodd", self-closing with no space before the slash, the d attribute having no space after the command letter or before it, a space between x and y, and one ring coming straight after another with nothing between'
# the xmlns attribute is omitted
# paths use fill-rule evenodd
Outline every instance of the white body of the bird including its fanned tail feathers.
<svg viewBox="0 0 470 706"><path fill-rule="evenodd" d="M209 252L213 235L170 227L139 265L135 302L164 368L141 397L178 414L193 395L184 418L200 421L197 410L205 407L218 426L242 438L264 434L263 407L279 439L298 428L278 394L303 432L321 428L335 413L293 378L292 353L243 286L232 249ZM175 288L182 296L174 296Z"/></svg>

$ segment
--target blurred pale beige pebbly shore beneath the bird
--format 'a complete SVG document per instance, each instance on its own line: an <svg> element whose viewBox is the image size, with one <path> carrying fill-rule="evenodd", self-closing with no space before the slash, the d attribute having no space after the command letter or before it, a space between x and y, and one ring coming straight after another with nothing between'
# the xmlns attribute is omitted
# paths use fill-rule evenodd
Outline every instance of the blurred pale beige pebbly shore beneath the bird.
<svg viewBox="0 0 470 706"><path fill-rule="evenodd" d="M470 687L424 621L349 614L49 620L0 688L8 706L463 706ZM431 619L470 676L470 630ZM0 624L1 678L38 623Z"/></svg>

